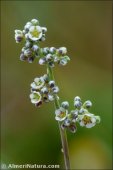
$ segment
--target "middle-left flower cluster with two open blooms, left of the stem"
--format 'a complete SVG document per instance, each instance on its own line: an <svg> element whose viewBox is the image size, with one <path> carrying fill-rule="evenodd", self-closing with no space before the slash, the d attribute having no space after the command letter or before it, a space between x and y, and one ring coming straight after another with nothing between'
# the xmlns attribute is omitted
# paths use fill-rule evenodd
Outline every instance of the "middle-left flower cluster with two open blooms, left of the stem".
<svg viewBox="0 0 113 170"><path fill-rule="evenodd" d="M58 92L59 88L56 86L55 81L49 81L46 74L42 77L37 77L31 83L31 103L35 104L35 106L41 106L44 102L54 101L55 97L58 98Z"/></svg>

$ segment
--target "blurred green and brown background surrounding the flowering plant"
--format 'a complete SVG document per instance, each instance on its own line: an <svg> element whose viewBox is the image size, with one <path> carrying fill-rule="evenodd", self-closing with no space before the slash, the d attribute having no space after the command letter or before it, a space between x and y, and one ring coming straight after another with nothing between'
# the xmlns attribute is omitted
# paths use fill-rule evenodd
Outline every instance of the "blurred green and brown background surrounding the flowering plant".
<svg viewBox="0 0 113 170"><path fill-rule="evenodd" d="M73 169L112 169L112 2L111 1L2 1L1 2L1 111L2 162L60 164L63 155L54 105L35 108L30 83L46 72L44 66L21 62L21 44L14 30L37 18L46 26L41 46L66 46L71 58L55 67L61 101L79 95L93 102L101 116L92 129L68 133Z"/></svg>

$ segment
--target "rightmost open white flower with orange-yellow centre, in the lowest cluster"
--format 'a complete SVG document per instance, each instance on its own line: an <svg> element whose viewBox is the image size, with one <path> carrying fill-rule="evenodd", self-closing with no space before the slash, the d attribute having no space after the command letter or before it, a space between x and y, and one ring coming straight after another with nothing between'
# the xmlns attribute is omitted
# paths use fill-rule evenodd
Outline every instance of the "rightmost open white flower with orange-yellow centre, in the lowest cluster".
<svg viewBox="0 0 113 170"><path fill-rule="evenodd" d="M80 123L80 126L85 126L86 128L92 128L93 126L96 125L96 123L99 123L99 116L95 116L94 114L91 113L86 113L84 115L79 115L78 116L78 121Z"/></svg>

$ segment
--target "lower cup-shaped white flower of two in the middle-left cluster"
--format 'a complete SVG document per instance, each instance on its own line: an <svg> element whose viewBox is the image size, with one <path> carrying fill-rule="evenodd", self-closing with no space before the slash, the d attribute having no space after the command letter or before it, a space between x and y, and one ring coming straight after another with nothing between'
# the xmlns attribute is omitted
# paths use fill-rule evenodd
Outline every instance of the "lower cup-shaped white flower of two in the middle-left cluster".
<svg viewBox="0 0 113 170"><path fill-rule="evenodd" d="M37 104L41 101L41 94L39 92L33 92L30 94L31 103Z"/></svg>

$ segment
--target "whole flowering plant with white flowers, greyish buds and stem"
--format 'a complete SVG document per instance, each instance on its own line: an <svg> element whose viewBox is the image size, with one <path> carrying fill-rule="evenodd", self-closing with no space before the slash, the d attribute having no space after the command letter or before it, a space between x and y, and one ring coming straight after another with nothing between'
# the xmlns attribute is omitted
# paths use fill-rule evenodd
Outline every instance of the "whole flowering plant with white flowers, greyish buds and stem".
<svg viewBox="0 0 113 170"><path fill-rule="evenodd" d="M92 128L100 122L100 117L89 112L91 101L82 102L79 96L74 98L74 109L69 111L69 102L60 103L58 96L59 87L55 83L53 67L65 66L70 58L66 47L44 47L39 46L40 41L45 41L46 27L41 27L37 19L27 22L24 29L15 30L16 43L24 41L25 46L21 50L20 60L32 63L37 59L40 65L47 67L47 73L36 77L31 83L30 99L36 107L47 102L55 103L55 119L58 121L62 148L64 153L65 168L70 169L69 151L66 130L72 133L77 131L77 123L86 128Z"/></svg>

